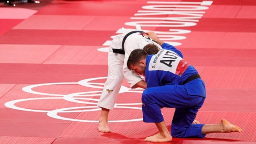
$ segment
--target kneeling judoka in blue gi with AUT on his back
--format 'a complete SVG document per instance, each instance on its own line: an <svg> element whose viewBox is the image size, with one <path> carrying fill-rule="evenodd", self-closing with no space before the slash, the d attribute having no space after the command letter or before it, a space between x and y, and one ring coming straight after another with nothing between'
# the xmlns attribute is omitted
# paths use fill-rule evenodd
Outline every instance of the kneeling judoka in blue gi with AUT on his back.
<svg viewBox="0 0 256 144"><path fill-rule="evenodd" d="M147 89L141 98L143 121L155 123L159 131L145 141L167 142L172 140L172 136L204 138L207 133L242 131L225 119L221 119L219 124L200 124L194 121L206 97L204 81L196 69L183 59L178 49L158 39L155 32L147 32L144 36L163 47L152 55L136 49L127 62L130 70L145 76ZM163 107L175 108L171 134L161 113Z"/></svg>

